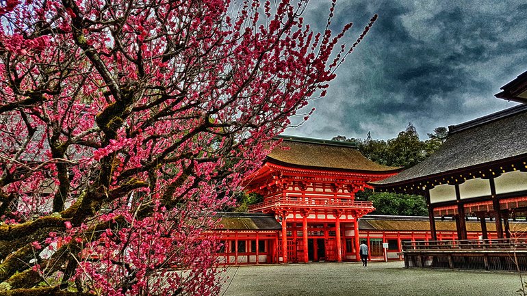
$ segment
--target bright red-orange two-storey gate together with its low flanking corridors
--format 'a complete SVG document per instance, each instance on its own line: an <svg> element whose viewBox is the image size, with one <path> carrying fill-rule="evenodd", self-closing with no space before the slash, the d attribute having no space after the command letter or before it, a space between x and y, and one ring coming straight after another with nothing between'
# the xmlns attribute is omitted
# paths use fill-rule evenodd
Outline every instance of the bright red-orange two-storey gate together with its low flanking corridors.
<svg viewBox="0 0 527 296"><path fill-rule="evenodd" d="M429 217L367 215L372 203L355 200L357 191L371 188L368 183L395 176L400 168L369 161L353 144L282 139L247 181L246 191L264 201L250 206L250 213L218 214L220 263L359 261L361 241L372 260L400 260L404 242L434 240ZM435 219L438 240L458 239L457 221ZM476 217L466 221L468 239L482 237L480 224ZM497 238L495 223L485 225L489 239Z"/></svg>

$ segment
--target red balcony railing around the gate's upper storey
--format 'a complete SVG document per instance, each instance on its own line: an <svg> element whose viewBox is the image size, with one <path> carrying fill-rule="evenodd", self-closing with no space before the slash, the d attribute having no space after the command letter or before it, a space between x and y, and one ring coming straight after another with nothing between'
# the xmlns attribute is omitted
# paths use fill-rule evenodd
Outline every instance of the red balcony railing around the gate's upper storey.
<svg viewBox="0 0 527 296"><path fill-rule="evenodd" d="M309 206L311 208L373 208L372 202L342 200L338 198L274 198L249 206L250 212L261 211L276 206Z"/></svg>

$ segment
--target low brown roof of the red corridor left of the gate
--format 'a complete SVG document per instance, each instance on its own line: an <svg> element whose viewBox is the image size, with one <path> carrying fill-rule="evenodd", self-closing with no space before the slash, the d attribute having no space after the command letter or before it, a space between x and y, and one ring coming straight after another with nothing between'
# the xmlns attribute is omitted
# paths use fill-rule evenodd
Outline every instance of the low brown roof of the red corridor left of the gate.
<svg viewBox="0 0 527 296"><path fill-rule="evenodd" d="M218 213L220 229L225 230L280 230L282 226L272 214Z"/></svg>

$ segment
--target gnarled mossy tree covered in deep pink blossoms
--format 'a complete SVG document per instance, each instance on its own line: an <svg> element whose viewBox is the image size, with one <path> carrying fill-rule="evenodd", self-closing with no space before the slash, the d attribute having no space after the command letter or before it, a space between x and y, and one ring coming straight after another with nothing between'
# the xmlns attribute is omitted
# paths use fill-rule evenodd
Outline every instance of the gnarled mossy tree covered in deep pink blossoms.
<svg viewBox="0 0 527 296"><path fill-rule="evenodd" d="M275 2L1 2L0 295L218 293L211 217L376 18Z"/></svg>

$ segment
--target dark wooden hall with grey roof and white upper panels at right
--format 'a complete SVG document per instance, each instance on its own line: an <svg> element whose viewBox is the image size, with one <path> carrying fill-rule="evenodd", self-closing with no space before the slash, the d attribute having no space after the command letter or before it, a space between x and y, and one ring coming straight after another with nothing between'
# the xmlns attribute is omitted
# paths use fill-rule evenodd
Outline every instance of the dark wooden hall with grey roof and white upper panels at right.
<svg viewBox="0 0 527 296"><path fill-rule="evenodd" d="M503 92L496 96L524 103L527 97L526 73L504 85ZM518 251L518 239L524 242L525 230L511 227L509 218L527 216L526 127L527 105L524 104L449 126L448 139L432 156L397 176L376 181L372 185L376 191L426 196L433 241L438 239L434 217L453 217L457 224L457 237L461 240L454 244L473 245L474 250L478 250L470 253L474 262L479 260L478 266L492 269L494 265L491 262L494 259L487 258L489 255L485 250L492 243L487 226L489 219L493 219L498 239L503 239L494 241L494 245L499 245L501 250L499 255L493 252L494 257L501 256L496 262L511 258L511 252ZM467 217L478 217L480 220L483 247L480 247L480 241L470 241ZM515 240L511 241L511 238ZM440 246L439 243L433 243L430 250L419 247L415 253L408 254L411 258L419 258L419 262L425 256L431 256L437 260L430 261L430 265L441 265L446 259L437 253ZM454 254L449 253L448 259L452 267L451 257L462 255L459 247L453 247L448 252ZM527 248L521 252L525 254L515 254L525 258L527 267ZM466 250L465 254L468 254ZM466 258L463 260L470 261ZM510 267L511 264L506 266Z"/></svg>

